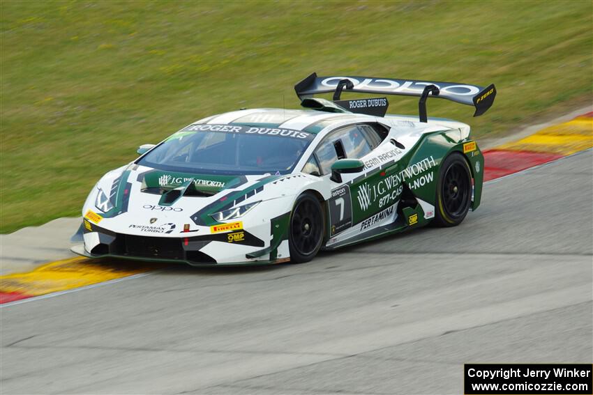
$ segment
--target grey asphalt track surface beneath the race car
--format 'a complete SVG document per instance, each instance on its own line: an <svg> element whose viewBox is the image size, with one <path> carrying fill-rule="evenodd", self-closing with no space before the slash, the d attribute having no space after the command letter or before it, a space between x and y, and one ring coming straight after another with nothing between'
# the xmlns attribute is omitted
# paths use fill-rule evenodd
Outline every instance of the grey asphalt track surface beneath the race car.
<svg viewBox="0 0 593 395"><path fill-rule="evenodd" d="M592 202L587 150L456 228L9 305L1 392L462 394L466 362L591 363Z"/></svg>

